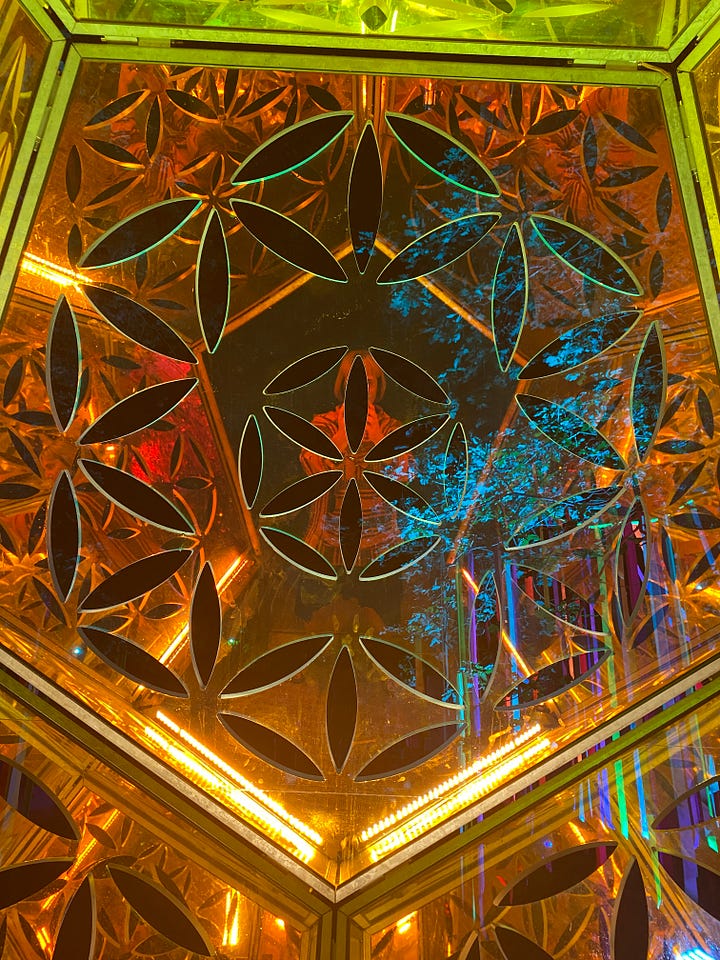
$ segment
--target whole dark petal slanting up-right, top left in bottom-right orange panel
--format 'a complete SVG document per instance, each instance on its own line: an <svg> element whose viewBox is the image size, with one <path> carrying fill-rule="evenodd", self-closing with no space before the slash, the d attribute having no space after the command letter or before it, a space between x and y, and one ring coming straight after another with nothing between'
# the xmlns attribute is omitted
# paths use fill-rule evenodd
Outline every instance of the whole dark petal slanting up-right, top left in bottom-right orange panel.
<svg viewBox="0 0 720 960"><path fill-rule="evenodd" d="M601 867L616 848L616 843L597 840L548 857L502 890L495 903L500 907L515 907L570 890Z"/></svg>

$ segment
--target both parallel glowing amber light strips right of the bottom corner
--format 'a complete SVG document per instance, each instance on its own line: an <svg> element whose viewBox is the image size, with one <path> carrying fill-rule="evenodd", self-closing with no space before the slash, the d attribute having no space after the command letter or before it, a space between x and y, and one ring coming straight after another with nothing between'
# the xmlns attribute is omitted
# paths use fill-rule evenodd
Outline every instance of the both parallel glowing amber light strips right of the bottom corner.
<svg viewBox="0 0 720 960"><path fill-rule="evenodd" d="M472 803L474 800L477 800L484 794L489 793L500 783L502 783L503 780L506 780L522 767L527 766L530 761L535 761L540 754L544 753L552 746L551 741L547 737L542 737L541 739L530 743L528 746L524 747L514 755L510 753L510 751L517 749L518 746L521 746L523 743L527 742L529 737L537 735L539 731L540 727L535 724L529 730L525 731L524 734L513 738L513 740L510 741L509 744L506 744L504 748L494 751L494 753L490 754L488 757L483 757L476 761L476 763L474 763L471 767L468 767L467 770L464 770L461 774L446 780L434 790L425 794L424 797L419 798L414 804L409 804L407 807L399 810L391 817L386 817L385 820L375 824L370 828L370 830L363 831L361 834L361 839L370 839L371 836L381 833L383 830L387 829L388 826L398 822L403 818L403 816L407 816L406 811L412 809L413 806L417 805L418 807L421 807L424 804L430 804L426 810L415 814L415 816L409 819L407 823L404 823L397 830L393 830L392 832L388 833L387 836L383 837L380 841L378 841L378 843L374 844L374 846L372 846L370 849L371 859L373 861L377 861L387 853L390 853L392 850L396 850L399 847L404 846L410 840L414 840L416 837L419 837L421 834L425 833L430 827L436 826L453 813L456 813L458 810L462 810L462 808L466 807L469 803ZM498 762L498 760L500 762ZM491 769L485 770L485 772L479 774L480 770L483 770L488 766L491 767ZM434 802L438 800L442 794L449 793L451 790L453 790L462 780L468 779L469 782L465 783L465 785L458 790L457 793L453 793L452 796L448 796L439 803Z"/></svg>

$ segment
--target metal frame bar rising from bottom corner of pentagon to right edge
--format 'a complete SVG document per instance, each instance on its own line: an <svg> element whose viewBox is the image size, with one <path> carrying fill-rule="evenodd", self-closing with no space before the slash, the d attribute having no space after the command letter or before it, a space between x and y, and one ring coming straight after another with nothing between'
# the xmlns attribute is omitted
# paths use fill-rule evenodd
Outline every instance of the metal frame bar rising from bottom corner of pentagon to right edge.
<svg viewBox="0 0 720 960"><path fill-rule="evenodd" d="M700 689L693 689L700 684ZM477 843L478 839L490 830L497 829L501 823L512 817L517 817L528 806L547 799L548 796L588 776L596 768L607 765L619 753L645 740L658 729L669 726L719 693L720 654L716 654L675 683L596 727L592 733L568 744L525 774L498 788L493 794L433 828L415 841L412 847L412 862L407 862L407 851L400 851L346 881L338 887L336 901L342 904L343 911L357 922L360 913L364 913L369 906L382 899L383 892L389 893L394 889L406 891L411 879L414 880L431 871L433 867L442 865L453 854ZM675 702L663 709L671 701ZM633 729L629 729L631 726ZM622 736L611 743L607 742L621 732ZM593 750L599 743L604 746L584 759L577 760L577 757ZM545 779L545 782L528 790L540 779ZM512 802L512 798L523 791L527 792ZM479 823L473 822L484 813L489 815ZM461 828L462 832L459 832ZM432 899L430 895L428 898ZM373 921L364 925L369 927L370 923ZM379 920L374 922L373 926L377 927L378 924Z"/></svg>

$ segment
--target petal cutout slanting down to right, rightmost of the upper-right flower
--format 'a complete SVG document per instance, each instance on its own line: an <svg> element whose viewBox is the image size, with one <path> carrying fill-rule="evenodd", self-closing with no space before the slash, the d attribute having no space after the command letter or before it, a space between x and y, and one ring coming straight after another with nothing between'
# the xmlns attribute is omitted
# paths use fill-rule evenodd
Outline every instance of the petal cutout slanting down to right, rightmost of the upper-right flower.
<svg viewBox="0 0 720 960"><path fill-rule="evenodd" d="M532 214L530 222L557 257L592 283L631 297L642 294L642 285L632 270L597 237L545 214Z"/></svg>

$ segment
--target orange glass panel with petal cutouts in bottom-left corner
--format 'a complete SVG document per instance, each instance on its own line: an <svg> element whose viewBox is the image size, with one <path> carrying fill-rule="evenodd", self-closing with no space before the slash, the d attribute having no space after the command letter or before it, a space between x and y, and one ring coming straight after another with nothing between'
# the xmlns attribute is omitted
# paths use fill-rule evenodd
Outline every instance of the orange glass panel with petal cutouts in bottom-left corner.
<svg viewBox="0 0 720 960"><path fill-rule="evenodd" d="M187 825L17 704L0 715L4 956L298 960L295 921L200 866Z"/></svg>

